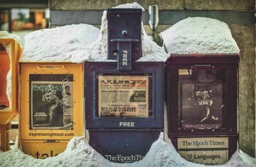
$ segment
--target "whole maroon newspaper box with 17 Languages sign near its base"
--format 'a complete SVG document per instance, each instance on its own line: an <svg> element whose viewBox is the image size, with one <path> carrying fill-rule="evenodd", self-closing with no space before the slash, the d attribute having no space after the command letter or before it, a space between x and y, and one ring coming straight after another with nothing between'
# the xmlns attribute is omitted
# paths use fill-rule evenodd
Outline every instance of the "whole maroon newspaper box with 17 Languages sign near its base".
<svg viewBox="0 0 256 167"><path fill-rule="evenodd" d="M237 148L239 54L171 55L166 61L168 136L195 163L227 163Z"/></svg>

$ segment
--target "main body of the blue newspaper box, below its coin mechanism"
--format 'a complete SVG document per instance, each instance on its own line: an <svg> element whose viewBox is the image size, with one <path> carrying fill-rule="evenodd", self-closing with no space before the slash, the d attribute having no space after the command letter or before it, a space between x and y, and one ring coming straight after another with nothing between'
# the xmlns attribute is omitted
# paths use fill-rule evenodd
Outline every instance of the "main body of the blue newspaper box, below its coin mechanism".
<svg viewBox="0 0 256 167"><path fill-rule="evenodd" d="M86 62L86 129L109 161L140 161L163 131L163 62Z"/></svg>

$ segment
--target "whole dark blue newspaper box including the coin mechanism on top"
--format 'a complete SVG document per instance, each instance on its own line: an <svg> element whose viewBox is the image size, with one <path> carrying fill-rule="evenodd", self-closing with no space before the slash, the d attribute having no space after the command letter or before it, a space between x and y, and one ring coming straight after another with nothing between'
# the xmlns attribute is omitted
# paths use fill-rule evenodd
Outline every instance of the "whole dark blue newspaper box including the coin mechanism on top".
<svg viewBox="0 0 256 167"><path fill-rule="evenodd" d="M163 131L164 63L141 57L141 9L108 10L109 62L86 62L86 129L109 161L140 161Z"/></svg>

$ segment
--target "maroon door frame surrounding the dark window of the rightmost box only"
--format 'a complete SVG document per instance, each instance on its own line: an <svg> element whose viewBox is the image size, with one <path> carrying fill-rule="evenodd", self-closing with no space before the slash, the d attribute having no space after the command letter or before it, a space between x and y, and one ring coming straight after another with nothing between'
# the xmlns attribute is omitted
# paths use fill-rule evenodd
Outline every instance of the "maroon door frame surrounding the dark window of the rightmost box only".
<svg viewBox="0 0 256 167"><path fill-rule="evenodd" d="M239 55L173 55L166 61L166 88L168 109L168 135L236 134L237 133L237 68ZM212 65L214 69L226 70L226 108L223 114L223 128L180 129L179 125L179 69L193 65ZM225 121L227 120L227 121Z"/></svg>

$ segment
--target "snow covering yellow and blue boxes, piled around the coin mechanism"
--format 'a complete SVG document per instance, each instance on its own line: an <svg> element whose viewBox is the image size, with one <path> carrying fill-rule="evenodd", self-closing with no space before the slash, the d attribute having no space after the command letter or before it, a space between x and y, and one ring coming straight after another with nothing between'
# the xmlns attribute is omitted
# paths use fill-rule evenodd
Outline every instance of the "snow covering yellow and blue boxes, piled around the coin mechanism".
<svg viewBox="0 0 256 167"><path fill-rule="evenodd" d="M121 4L115 8L144 10L138 3ZM96 28L86 24L35 31L25 37L22 61L72 61L73 63L109 61L106 11L102 16L99 38L97 37ZM139 61L166 61L168 54L150 39L143 25L141 26L141 42L143 58Z"/></svg>

